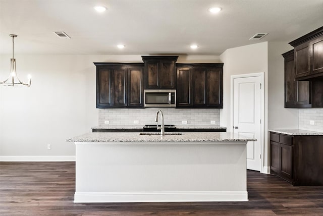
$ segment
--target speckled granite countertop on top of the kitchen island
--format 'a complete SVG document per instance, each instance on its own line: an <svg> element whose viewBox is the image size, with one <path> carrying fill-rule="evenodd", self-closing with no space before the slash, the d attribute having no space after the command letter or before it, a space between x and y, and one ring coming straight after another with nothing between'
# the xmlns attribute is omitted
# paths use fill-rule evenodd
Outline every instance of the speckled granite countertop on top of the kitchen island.
<svg viewBox="0 0 323 216"><path fill-rule="evenodd" d="M149 133L155 134L155 133ZM161 138L157 135L140 135L139 132L128 133L86 133L80 136L76 136L67 139L67 142L119 142L123 144L125 142L142 142L142 144L150 144L157 142L177 142L177 144L185 144L183 142L245 142L256 141L256 139L239 136L238 134L228 132L201 132L201 133L172 133L167 132L166 135ZM181 135L170 135L181 134ZM204 143L201 143L204 144ZM216 143L213 143L216 144Z"/></svg>

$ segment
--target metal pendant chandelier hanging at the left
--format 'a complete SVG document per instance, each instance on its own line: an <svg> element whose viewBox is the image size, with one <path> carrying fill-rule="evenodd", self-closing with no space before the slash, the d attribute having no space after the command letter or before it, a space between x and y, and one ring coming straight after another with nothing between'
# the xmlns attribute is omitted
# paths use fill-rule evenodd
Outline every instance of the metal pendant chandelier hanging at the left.
<svg viewBox="0 0 323 216"><path fill-rule="evenodd" d="M29 75L28 84L23 83L17 76L16 71L16 59L14 58L14 38L17 37L16 34L10 34L12 37L12 59L10 60L10 73L8 79L3 82L0 82L0 85L7 85L7 86L30 86L31 85L31 76Z"/></svg>

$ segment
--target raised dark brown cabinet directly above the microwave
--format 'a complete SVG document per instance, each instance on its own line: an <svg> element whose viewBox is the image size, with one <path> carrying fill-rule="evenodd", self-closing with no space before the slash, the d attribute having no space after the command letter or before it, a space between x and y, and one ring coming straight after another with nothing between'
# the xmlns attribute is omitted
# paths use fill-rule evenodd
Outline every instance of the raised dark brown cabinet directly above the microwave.
<svg viewBox="0 0 323 216"><path fill-rule="evenodd" d="M142 56L145 89L175 89L178 56Z"/></svg>

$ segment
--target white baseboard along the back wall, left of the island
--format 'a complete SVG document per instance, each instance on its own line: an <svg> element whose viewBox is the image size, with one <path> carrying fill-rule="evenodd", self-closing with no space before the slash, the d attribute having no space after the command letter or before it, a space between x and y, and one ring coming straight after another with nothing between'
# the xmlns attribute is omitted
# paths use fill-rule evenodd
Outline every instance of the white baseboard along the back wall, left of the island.
<svg viewBox="0 0 323 216"><path fill-rule="evenodd" d="M75 161L75 155L62 156L0 156L0 161Z"/></svg>

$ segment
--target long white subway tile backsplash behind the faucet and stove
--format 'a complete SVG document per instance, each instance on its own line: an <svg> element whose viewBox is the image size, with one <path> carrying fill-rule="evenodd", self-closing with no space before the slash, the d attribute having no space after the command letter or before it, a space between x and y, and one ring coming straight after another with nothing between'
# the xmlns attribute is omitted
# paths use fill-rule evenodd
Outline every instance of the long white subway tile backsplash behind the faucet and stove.
<svg viewBox="0 0 323 216"><path fill-rule="evenodd" d="M186 120L187 125L207 126L210 120L220 125L219 109L174 109L174 108L146 108L146 109L99 109L98 124L104 126L104 121L109 120L109 126L132 126L155 124L155 115L158 110L164 113L164 123L167 125L182 125ZM138 120L139 124L133 121Z"/></svg>

